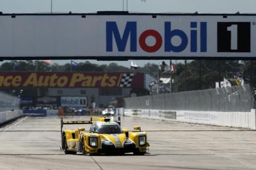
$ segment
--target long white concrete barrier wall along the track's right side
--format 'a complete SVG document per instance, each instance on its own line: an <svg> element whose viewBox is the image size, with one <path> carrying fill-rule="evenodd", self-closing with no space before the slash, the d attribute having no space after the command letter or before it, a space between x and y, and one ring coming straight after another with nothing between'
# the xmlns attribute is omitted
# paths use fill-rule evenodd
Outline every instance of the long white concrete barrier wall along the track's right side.
<svg viewBox="0 0 256 170"><path fill-rule="evenodd" d="M124 115L256 130L255 109L250 112L125 109Z"/></svg>

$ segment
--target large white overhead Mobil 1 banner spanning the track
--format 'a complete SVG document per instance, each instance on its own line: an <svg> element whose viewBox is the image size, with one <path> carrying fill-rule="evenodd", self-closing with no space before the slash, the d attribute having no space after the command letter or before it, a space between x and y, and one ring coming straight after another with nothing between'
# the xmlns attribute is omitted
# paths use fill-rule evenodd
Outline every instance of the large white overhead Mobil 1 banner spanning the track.
<svg viewBox="0 0 256 170"><path fill-rule="evenodd" d="M256 57L255 22L243 14L1 15L0 57Z"/></svg>

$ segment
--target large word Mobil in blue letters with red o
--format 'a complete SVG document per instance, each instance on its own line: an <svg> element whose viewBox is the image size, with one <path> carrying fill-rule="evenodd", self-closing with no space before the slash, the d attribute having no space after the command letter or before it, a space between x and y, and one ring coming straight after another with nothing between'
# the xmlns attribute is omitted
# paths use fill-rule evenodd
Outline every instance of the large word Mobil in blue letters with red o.
<svg viewBox="0 0 256 170"><path fill-rule="evenodd" d="M197 29L198 25L200 31ZM159 26L159 28L160 27L161 26ZM113 52L113 41L115 41L118 52L125 52L127 41L130 38L130 49L128 49L130 52L137 52L138 44L141 50L147 53L159 51L162 45L164 46L162 48L164 52L179 53L183 52L186 48L188 48L190 52L198 52L198 50L200 52L207 52L207 22L188 22L187 27L190 30L187 33L180 29L172 29L172 22L164 22L162 27L162 29L164 29L163 35L157 30L152 29L147 29L138 35L137 22L127 21L123 34L120 35L117 22L108 21L106 22L106 51ZM175 36L180 39L180 43L177 45L172 42ZM147 44L146 39L148 37L155 39L153 45ZM199 49L198 41L200 42Z"/></svg>

